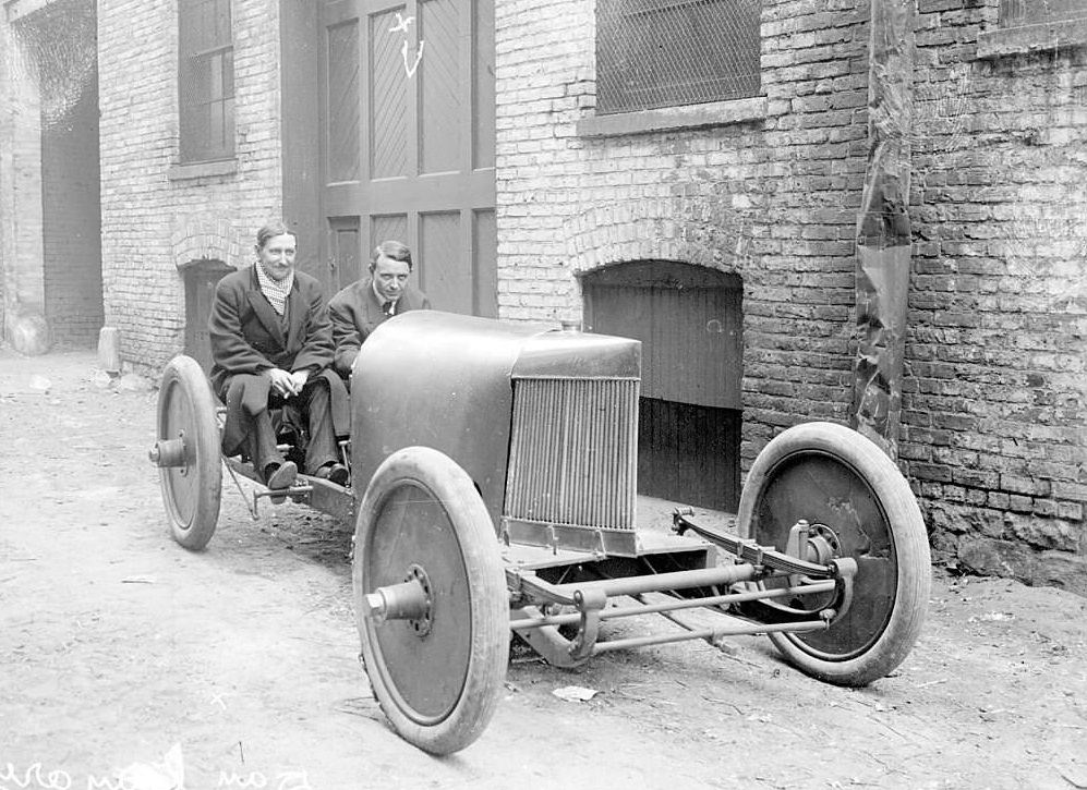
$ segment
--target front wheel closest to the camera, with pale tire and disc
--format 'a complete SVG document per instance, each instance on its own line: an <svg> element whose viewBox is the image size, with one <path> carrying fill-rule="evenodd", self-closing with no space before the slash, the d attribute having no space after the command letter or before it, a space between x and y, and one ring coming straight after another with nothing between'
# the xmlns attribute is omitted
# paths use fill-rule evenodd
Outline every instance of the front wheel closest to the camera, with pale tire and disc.
<svg viewBox="0 0 1087 790"><path fill-rule="evenodd" d="M447 455L409 447L374 473L354 535L355 620L374 695L406 741L457 752L486 729L508 663L509 598L486 507ZM363 613L365 594L413 569L432 592L425 628Z"/></svg>

